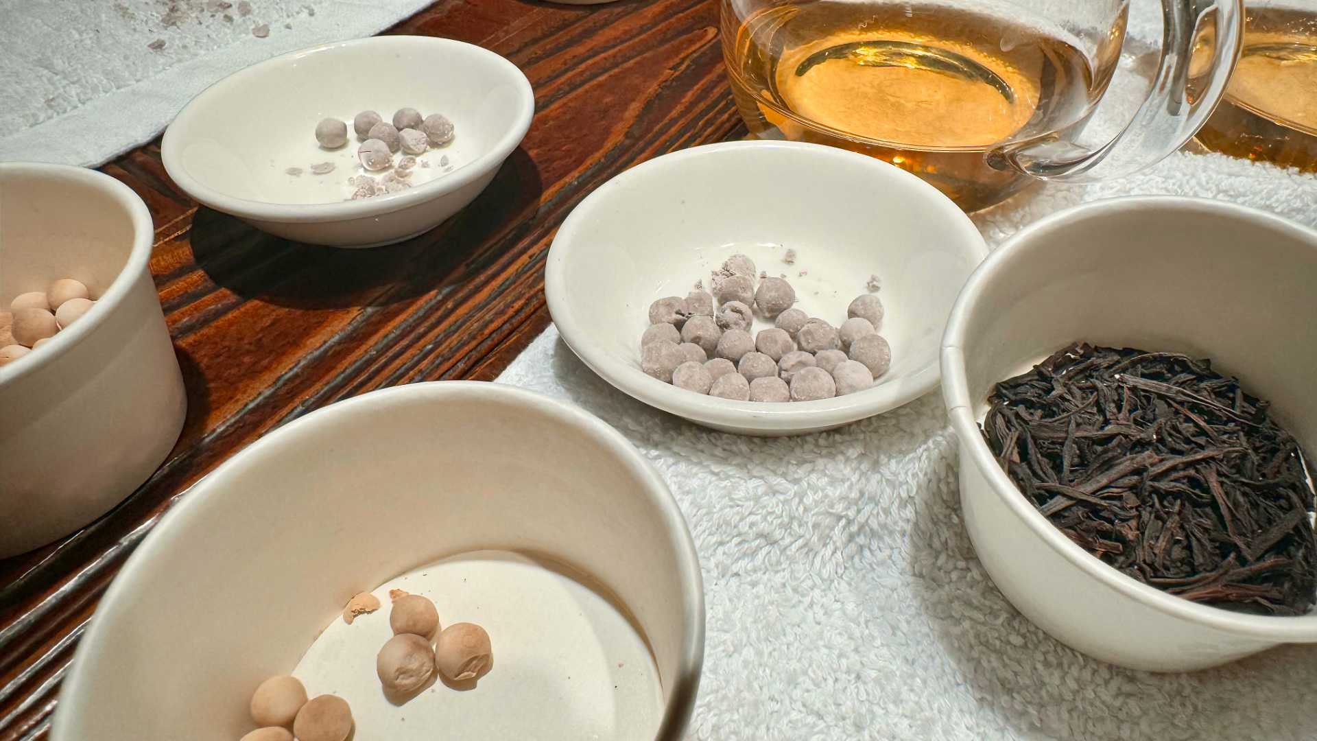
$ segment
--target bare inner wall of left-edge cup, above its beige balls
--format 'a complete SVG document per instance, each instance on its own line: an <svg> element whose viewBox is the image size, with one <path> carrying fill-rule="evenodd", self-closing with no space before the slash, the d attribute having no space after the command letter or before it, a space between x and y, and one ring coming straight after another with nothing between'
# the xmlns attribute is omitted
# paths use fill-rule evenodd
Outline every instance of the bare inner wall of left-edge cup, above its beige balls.
<svg viewBox="0 0 1317 741"><path fill-rule="evenodd" d="M121 196L71 169L0 166L0 306L76 278L100 297L128 264L133 215Z"/></svg>

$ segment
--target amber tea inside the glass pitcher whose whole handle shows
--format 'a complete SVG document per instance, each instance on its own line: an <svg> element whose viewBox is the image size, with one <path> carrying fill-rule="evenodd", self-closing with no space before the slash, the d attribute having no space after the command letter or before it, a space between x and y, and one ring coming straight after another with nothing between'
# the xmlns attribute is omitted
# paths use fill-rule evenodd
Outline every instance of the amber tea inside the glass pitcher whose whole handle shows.
<svg viewBox="0 0 1317 741"><path fill-rule="evenodd" d="M735 26L723 28L724 54L751 133L880 157L967 211L1027 182L990 167L989 149L1072 133L1108 82L1060 38L947 7L819 1L743 21L724 7L723 22ZM1118 53L1118 32L1112 41Z"/></svg>

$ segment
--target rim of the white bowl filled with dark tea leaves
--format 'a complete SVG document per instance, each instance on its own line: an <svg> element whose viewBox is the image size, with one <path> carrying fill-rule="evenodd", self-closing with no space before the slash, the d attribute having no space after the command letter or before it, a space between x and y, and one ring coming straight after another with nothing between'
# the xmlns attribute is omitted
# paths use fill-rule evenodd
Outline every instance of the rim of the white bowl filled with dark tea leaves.
<svg viewBox="0 0 1317 741"><path fill-rule="evenodd" d="M1079 567L1087 575L1114 592L1130 597L1163 614L1205 625L1237 636L1271 641L1317 641L1317 610L1303 616L1259 616L1235 613L1168 595L1143 584L1131 576L1089 555L1079 545L1062 534L1036 508L1030 505L1006 472L997 465L988 443L979 431L975 401L969 398L965 359L961 351L969 307L1001 274L1004 265L1017 252L1054 240L1079 222L1119 218L1131 212L1202 214L1227 216L1250 222L1259 228L1285 233L1306 241L1317 253L1317 231L1284 219L1276 214L1208 198L1175 195L1127 195L1094 200L1043 218L1002 243L969 277L951 310L951 319L942 339L942 388L951 426L960 439L961 465L975 465L988 485L1025 525L1048 547Z"/></svg>

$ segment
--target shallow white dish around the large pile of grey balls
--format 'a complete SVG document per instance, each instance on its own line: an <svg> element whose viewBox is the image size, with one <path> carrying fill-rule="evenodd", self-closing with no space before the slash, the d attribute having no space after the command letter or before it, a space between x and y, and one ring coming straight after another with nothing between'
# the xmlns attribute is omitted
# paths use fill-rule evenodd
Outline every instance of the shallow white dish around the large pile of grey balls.
<svg viewBox="0 0 1317 741"><path fill-rule="evenodd" d="M797 253L792 265L786 249ZM641 372L651 302L685 297L697 280L707 286L710 270L736 252L770 276L785 273L795 306L832 326L878 276L892 369L872 389L792 403L701 396ZM886 162L814 144L738 141L665 154L590 194L553 240L544 291L562 339L618 389L716 430L792 435L932 390L947 314L986 253L951 200Z"/></svg>

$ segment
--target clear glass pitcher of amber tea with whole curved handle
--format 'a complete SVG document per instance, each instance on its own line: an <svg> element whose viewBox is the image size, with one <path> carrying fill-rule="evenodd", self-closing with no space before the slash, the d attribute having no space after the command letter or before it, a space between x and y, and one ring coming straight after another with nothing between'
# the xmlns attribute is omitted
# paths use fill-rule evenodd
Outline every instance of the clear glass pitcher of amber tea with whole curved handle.
<svg viewBox="0 0 1317 741"><path fill-rule="evenodd" d="M1117 177L1179 149L1221 99L1243 20L1241 0L1162 0L1160 53L1135 75L1147 86L1142 105L1134 100L1118 133L1088 142L1129 0L720 3L723 55L751 133L880 157L967 211L1034 178Z"/></svg>

